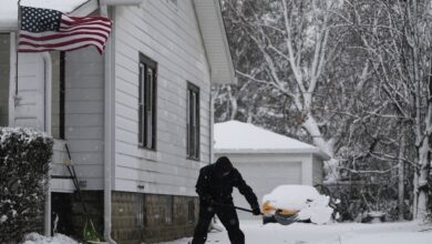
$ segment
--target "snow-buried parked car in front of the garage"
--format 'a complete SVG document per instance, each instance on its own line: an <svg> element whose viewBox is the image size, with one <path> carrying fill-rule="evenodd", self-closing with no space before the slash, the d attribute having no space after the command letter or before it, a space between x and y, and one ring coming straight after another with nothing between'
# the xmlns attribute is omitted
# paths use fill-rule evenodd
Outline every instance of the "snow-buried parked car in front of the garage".
<svg viewBox="0 0 432 244"><path fill-rule="evenodd" d="M263 222L276 223L284 216L300 222L326 224L330 222L333 209L329 206L330 197L321 195L309 185L279 185L263 197ZM280 222L279 222L280 223Z"/></svg>

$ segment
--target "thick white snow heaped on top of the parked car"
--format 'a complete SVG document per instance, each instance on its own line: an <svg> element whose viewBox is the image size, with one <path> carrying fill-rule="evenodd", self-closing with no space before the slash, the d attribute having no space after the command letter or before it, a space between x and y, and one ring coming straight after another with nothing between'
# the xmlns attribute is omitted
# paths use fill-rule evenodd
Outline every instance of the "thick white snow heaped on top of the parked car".
<svg viewBox="0 0 432 244"><path fill-rule="evenodd" d="M319 194L309 185L279 185L263 197L263 203L268 202L276 209L300 211L299 220L310 220L316 224L331 221L333 210L329 207L329 196Z"/></svg>

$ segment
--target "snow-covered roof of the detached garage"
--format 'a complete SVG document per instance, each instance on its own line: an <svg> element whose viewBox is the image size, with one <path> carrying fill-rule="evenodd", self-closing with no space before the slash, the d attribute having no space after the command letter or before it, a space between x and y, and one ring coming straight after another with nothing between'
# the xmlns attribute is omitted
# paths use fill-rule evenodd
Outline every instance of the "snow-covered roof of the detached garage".
<svg viewBox="0 0 432 244"><path fill-rule="evenodd" d="M280 152L317 153L326 155L318 148L296 139L258 128L250 123L228 121L215 124L216 153L229 152Z"/></svg>

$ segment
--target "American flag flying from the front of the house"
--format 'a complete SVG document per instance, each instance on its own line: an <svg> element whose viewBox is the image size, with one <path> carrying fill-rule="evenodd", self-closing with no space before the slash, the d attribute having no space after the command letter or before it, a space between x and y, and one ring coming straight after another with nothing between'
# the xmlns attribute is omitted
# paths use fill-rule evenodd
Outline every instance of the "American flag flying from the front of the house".
<svg viewBox="0 0 432 244"><path fill-rule="evenodd" d="M20 52L72 51L105 48L112 22L103 17L69 17L60 11L21 7Z"/></svg>

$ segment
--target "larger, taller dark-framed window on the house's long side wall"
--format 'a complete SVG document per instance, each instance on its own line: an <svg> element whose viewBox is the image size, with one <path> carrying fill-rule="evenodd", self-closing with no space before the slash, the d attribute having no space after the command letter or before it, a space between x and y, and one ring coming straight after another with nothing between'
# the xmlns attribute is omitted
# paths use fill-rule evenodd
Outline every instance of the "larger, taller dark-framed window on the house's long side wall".
<svg viewBox="0 0 432 244"><path fill-rule="evenodd" d="M157 63L140 54L138 144L156 150Z"/></svg>

